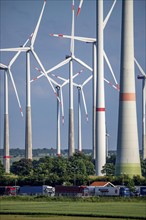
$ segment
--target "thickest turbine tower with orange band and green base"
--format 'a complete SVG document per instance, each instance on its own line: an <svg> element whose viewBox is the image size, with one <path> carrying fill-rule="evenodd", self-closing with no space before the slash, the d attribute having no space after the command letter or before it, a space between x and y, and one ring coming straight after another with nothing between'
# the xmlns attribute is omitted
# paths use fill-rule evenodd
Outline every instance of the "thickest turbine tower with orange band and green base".
<svg viewBox="0 0 146 220"><path fill-rule="evenodd" d="M122 1L120 97L116 175L141 175L137 131L133 0Z"/></svg>

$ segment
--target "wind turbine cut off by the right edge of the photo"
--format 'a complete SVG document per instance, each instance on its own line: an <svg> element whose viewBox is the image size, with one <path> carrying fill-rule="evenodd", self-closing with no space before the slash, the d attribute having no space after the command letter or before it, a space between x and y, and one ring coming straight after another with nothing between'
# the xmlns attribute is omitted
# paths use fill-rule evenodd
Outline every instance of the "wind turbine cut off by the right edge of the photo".
<svg viewBox="0 0 146 220"><path fill-rule="evenodd" d="M138 79L142 80L142 159L146 159L146 74L136 58L134 61L141 72Z"/></svg>

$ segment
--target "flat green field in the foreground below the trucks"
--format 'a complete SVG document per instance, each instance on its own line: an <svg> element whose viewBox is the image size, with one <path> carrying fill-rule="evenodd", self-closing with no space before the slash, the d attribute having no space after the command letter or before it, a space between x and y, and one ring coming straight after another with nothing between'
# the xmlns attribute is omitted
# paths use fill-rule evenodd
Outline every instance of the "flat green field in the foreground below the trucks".
<svg viewBox="0 0 146 220"><path fill-rule="evenodd" d="M37 217L39 220L99 220L101 217L105 219L146 218L145 201L23 201L10 198L10 200L2 199L0 203L1 220L18 220L19 218L34 220Z"/></svg>

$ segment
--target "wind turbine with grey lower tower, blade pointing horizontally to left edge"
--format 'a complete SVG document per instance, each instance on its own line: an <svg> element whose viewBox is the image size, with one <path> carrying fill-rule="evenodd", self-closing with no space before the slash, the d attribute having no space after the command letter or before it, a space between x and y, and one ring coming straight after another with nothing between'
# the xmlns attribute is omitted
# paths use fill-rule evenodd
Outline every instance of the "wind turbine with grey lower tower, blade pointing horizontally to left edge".
<svg viewBox="0 0 146 220"><path fill-rule="evenodd" d="M37 25L35 27L33 36L30 40L30 46L29 47L18 47L18 48L8 48L8 49L0 49L0 51L10 51L10 52L26 52L26 127L25 127L25 158L26 159L32 159L32 122L31 122L31 88L30 88L30 52L43 70L43 75L46 76L47 80L49 81L50 85L51 81L50 78L47 76L46 71L34 51L34 43L36 40L36 36L38 33L38 29L40 26L40 22L43 16L43 12L45 9L46 0L44 0L44 4L37 22Z"/></svg>

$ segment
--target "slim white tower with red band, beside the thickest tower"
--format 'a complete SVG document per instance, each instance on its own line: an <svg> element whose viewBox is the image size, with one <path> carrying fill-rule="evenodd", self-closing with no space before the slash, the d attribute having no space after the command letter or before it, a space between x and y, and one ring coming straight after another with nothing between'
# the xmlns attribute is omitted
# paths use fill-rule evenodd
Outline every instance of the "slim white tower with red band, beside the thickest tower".
<svg viewBox="0 0 146 220"><path fill-rule="evenodd" d="M101 176L106 163L106 129L105 129L105 95L104 95L104 61L103 61L103 0L96 1L96 175Z"/></svg>

